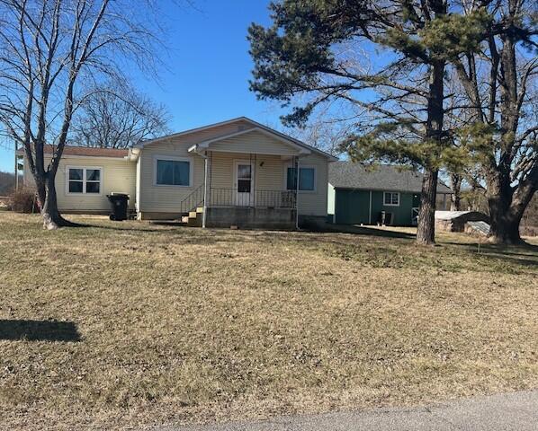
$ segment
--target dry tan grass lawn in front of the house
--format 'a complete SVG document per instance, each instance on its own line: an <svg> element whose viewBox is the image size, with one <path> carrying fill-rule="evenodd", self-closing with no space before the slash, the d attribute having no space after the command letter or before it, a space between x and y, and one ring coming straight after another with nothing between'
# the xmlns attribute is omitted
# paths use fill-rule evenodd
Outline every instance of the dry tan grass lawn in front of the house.
<svg viewBox="0 0 538 431"><path fill-rule="evenodd" d="M538 386L538 247L0 213L0 427L118 429ZM30 321L30 322L19 322Z"/></svg>

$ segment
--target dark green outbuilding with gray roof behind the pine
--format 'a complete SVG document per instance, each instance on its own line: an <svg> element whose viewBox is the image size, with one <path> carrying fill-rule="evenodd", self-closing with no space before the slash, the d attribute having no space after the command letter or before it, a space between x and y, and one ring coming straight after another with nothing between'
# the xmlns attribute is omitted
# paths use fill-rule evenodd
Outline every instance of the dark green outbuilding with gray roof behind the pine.
<svg viewBox="0 0 538 431"><path fill-rule="evenodd" d="M381 164L329 163L327 214L336 224L417 225L422 174ZM452 190L439 181L437 209L450 206Z"/></svg>

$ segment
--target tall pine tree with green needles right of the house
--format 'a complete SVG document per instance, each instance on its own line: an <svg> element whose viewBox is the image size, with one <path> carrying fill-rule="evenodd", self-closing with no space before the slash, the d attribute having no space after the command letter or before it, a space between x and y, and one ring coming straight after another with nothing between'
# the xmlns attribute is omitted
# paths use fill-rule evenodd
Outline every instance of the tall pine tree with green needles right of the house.
<svg viewBox="0 0 538 431"><path fill-rule="evenodd" d="M304 125L322 104L344 103L355 121L345 140L352 159L422 167L417 242L434 243L438 172L451 144L445 67L478 45L488 17L449 14L447 0L283 0L270 9L272 26L249 29L251 89L291 108L287 125Z"/></svg>

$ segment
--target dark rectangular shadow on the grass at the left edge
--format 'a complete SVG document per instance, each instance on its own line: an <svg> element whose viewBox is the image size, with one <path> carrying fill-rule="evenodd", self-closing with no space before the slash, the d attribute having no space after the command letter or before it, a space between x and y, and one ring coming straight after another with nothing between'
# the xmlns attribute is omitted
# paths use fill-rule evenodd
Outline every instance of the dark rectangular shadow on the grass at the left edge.
<svg viewBox="0 0 538 431"><path fill-rule="evenodd" d="M27 341L80 341L72 321L27 321L0 319L0 339Z"/></svg>

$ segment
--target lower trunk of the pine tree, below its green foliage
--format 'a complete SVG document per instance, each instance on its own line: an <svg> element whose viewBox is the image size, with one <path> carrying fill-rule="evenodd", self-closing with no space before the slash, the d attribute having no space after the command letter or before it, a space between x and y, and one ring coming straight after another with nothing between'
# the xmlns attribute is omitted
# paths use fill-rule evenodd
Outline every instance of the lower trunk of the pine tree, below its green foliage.
<svg viewBox="0 0 538 431"><path fill-rule="evenodd" d="M437 195L437 171L426 170L422 179L420 209L418 210L417 242L435 244L435 198Z"/></svg>

